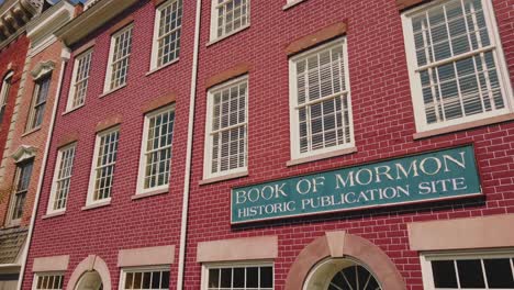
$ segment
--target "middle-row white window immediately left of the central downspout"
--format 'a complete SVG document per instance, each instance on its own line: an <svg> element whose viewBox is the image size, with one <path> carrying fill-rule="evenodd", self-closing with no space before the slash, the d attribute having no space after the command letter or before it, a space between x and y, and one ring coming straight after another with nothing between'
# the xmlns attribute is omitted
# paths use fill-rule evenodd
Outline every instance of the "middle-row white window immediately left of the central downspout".
<svg viewBox="0 0 514 290"><path fill-rule="evenodd" d="M174 141L175 105L145 116L139 167L139 193L168 188Z"/></svg>

